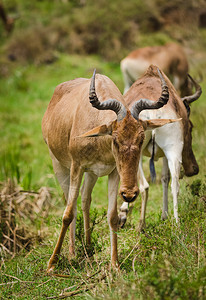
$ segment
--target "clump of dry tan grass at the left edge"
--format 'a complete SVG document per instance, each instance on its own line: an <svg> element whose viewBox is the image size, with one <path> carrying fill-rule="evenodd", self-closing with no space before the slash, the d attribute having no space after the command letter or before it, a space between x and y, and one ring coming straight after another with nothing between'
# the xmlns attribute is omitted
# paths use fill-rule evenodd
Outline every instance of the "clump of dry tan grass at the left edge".
<svg viewBox="0 0 206 300"><path fill-rule="evenodd" d="M0 252L12 258L23 249L43 238L43 232L32 231L38 214L47 217L50 206L50 193L46 187L38 192L24 191L14 181L2 184L0 193ZM3 256L2 256L3 257Z"/></svg>

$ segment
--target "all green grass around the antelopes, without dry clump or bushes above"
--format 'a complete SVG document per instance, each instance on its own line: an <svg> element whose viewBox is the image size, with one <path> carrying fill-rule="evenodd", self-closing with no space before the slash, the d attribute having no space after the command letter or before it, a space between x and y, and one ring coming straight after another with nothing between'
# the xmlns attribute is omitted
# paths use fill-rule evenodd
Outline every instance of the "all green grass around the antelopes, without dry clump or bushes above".
<svg viewBox="0 0 206 300"><path fill-rule="evenodd" d="M31 231L44 232L44 239L14 258L0 253L0 298L47 299L71 287L67 292L79 291L78 299L205 299L204 93L191 109L191 119L195 125L193 148L200 173L181 180L179 226L172 217L171 195L170 217L161 221L161 163L158 162L158 183L150 186L147 229L141 234L136 230L140 211L138 199L125 228L118 232L121 271L116 273L110 270L107 179L99 178L91 208L92 249L88 253L85 250L79 198L77 257L68 261L66 236L57 266L57 273L69 276L46 275L47 262L61 227L64 201L41 135L43 113L56 85L75 77L91 77L94 68L108 75L123 91L118 64L108 63L98 56L58 56L58 60L50 65L17 66L10 77L0 80L0 181L6 181L9 177L24 189L37 191L41 186L47 186L52 191L49 215L45 218L37 215L30 225ZM202 86L204 90L205 79ZM145 169L148 176L146 159ZM89 253L93 255L89 257ZM83 291L80 293L81 289Z"/></svg>

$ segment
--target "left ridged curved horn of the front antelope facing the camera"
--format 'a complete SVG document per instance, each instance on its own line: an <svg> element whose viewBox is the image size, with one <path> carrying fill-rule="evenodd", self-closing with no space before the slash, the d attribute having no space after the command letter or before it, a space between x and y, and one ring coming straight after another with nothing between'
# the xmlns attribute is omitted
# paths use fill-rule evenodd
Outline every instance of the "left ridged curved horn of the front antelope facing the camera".
<svg viewBox="0 0 206 300"><path fill-rule="evenodd" d="M117 101L116 99L109 99L103 102L99 101L97 94L95 92L95 74L96 74L96 70L94 70L91 84L90 84L90 89L89 89L90 103L92 104L93 107L99 110L113 110L117 115L117 120L121 121L127 114L126 108L121 102Z"/></svg>

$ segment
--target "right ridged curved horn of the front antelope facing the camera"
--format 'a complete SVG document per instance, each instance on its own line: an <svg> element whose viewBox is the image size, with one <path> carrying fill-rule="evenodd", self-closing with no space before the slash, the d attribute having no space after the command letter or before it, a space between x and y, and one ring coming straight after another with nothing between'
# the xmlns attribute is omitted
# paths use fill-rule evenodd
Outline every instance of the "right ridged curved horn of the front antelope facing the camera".
<svg viewBox="0 0 206 300"><path fill-rule="evenodd" d="M139 114L142 110L145 109L158 109L167 104L169 100L169 91L167 84L164 80L164 77L162 76L162 73L160 70L157 68L157 71L159 73L159 77L161 80L161 86L162 86L162 94L158 101L151 101L149 99L140 99L134 103L134 105L131 108L131 114L133 117L138 120L139 119Z"/></svg>

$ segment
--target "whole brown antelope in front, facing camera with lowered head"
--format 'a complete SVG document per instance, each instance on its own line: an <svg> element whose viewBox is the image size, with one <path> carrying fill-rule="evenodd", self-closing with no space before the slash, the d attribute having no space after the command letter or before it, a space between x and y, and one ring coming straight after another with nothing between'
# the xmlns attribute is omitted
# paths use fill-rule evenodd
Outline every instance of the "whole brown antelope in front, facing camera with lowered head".
<svg viewBox="0 0 206 300"><path fill-rule="evenodd" d="M160 86L157 96L159 100L140 100L134 102L131 109L128 109L115 84L103 75L96 75L96 87L95 74L91 80L77 78L56 87L42 120L42 131L67 206L59 239L49 260L48 272L52 272L55 267L69 225L69 253L75 254L77 197L83 173L85 177L81 200L87 244L90 243L91 192L99 176L109 177L107 218L111 237L111 264L118 265L119 180L121 198L133 202L139 194L137 170L145 130L177 121L139 119L142 110L158 109L168 101L168 89L160 72L156 84Z"/></svg>

